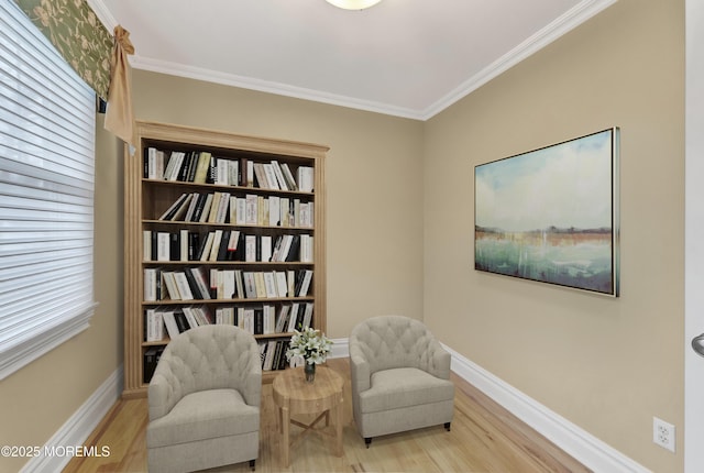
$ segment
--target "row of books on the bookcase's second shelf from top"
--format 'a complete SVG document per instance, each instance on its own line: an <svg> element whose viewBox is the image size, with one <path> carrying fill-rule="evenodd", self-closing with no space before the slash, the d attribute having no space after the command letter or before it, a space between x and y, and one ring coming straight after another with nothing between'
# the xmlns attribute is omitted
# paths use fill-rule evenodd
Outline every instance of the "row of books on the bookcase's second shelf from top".
<svg viewBox="0 0 704 473"><path fill-rule="evenodd" d="M184 193L158 220L238 226L314 227L314 202L299 198Z"/></svg>

